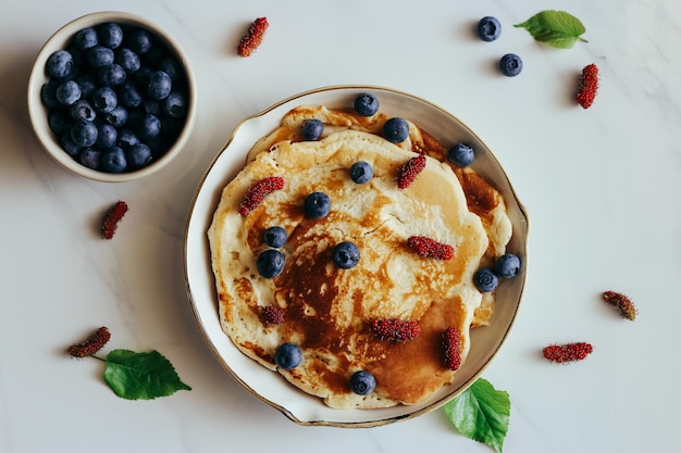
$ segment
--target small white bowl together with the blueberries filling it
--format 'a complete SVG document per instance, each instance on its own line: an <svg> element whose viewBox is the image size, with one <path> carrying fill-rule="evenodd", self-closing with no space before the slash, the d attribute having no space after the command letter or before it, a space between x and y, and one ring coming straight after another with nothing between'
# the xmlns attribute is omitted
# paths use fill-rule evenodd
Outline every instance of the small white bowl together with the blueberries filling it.
<svg viewBox="0 0 681 453"><path fill-rule="evenodd" d="M100 181L152 174L185 147L196 111L191 68L178 43L124 12L78 17L38 52L28 112L47 153Z"/></svg>

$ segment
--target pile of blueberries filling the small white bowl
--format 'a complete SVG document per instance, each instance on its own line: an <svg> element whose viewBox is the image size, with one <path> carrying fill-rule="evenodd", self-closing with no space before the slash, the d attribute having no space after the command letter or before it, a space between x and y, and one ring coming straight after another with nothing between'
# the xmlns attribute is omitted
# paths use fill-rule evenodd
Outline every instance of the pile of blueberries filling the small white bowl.
<svg viewBox="0 0 681 453"><path fill-rule="evenodd" d="M149 30L103 23L77 32L47 60L40 99L61 148L106 173L161 158L189 105L184 66Z"/></svg>

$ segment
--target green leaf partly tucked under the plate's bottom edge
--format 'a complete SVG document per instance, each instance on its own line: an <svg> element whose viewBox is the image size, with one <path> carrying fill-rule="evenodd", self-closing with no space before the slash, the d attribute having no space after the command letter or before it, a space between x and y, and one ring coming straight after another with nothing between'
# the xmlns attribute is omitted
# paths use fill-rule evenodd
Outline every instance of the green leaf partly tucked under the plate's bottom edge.
<svg viewBox="0 0 681 453"><path fill-rule="evenodd" d="M510 419L510 399L483 378L445 404L445 414L455 428L469 439L502 453Z"/></svg>

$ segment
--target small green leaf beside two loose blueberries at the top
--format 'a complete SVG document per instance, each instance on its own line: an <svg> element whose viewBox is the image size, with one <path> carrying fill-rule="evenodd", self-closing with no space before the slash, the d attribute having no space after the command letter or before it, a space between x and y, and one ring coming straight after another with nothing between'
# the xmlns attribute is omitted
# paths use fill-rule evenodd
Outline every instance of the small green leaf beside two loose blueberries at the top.
<svg viewBox="0 0 681 453"><path fill-rule="evenodd" d="M578 39L586 32L579 18L565 11L547 10L536 13L522 24L515 27L522 27L530 32L530 35L537 41L546 42L557 49L571 49Z"/></svg>

